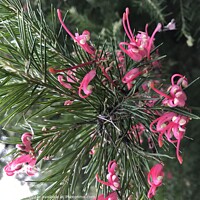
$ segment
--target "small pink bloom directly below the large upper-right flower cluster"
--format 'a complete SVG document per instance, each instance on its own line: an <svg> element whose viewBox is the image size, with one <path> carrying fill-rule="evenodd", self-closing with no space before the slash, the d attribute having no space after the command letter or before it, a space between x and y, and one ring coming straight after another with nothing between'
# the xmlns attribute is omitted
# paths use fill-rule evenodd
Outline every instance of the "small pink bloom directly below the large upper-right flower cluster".
<svg viewBox="0 0 200 200"><path fill-rule="evenodd" d="M133 87L133 81L143 73L138 68L133 68L122 78L122 83L126 83L128 90L130 90Z"/></svg>

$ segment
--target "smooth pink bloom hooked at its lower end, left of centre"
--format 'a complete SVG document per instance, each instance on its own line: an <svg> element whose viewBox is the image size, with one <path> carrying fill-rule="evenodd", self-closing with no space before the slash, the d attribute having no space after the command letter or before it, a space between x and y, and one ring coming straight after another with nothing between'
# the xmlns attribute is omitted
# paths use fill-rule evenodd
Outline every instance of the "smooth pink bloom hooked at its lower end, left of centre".
<svg viewBox="0 0 200 200"><path fill-rule="evenodd" d="M95 76L95 69L91 70L84 76L78 90L78 94L81 98L87 98L92 93L92 86L90 86L89 83ZM85 93L85 96L81 94L82 91Z"/></svg>

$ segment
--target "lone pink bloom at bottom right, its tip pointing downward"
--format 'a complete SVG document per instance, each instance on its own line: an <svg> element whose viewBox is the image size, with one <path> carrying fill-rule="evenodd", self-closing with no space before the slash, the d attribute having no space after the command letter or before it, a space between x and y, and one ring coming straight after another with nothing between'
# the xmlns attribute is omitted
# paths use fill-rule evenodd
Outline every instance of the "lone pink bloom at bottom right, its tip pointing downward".
<svg viewBox="0 0 200 200"><path fill-rule="evenodd" d="M154 165L148 173L148 183L151 186L147 194L148 198L152 198L156 194L157 187L162 185L164 177L163 165L158 163Z"/></svg>

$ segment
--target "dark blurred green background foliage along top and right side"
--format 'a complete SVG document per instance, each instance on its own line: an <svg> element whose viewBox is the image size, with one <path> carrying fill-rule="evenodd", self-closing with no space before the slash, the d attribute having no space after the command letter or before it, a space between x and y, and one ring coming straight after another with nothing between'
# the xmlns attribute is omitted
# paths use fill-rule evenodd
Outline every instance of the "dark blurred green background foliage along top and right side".
<svg viewBox="0 0 200 200"><path fill-rule="evenodd" d="M30 0L33 6L39 3ZM24 5L26 4L23 1ZM175 19L177 29L158 33L156 44L163 43L160 54L167 55L162 61L166 74L181 73L189 82L197 81L186 90L188 105L193 113L200 115L200 1L196 0L43 0L41 2L44 16L51 24L50 13L52 8L60 8L63 13L68 11L67 26L75 32L87 29L93 40L99 35L105 39L111 36L124 37L121 17L126 7L130 8L130 21L132 29L136 32L144 30L149 24L150 32L158 22L167 24ZM57 25L59 30L60 25ZM62 41L62 37L60 38ZM200 136L199 121L191 121L187 127L186 136L181 144L183 151L183 165L174 160L168 160L166 172L173 175L166 180L163 189L158 192L156 199L166 200L198 200L200 196ZM164 194L160 195L159 193Z"/></svg>

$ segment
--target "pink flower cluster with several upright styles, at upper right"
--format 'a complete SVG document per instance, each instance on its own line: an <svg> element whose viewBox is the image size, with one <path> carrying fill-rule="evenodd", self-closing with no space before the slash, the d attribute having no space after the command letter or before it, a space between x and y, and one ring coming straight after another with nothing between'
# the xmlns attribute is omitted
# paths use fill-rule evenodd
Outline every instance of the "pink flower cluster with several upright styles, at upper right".
<svg viewBox="0 0 200 200"><path fill-rule="evenodd" d="M136 62L142 60L144 57L150 59L150 52L154 46L154 36L161 29L162 25L160 23L157 25L151 37L149 37L147 31L148 24L145 27L145 32L139 31L139 33L134 36L130 27L128 15L129 8L126 8L125 13L123 14L122 22L126 35L130 39L130 43L120 42L119 47ZM127 46L127 49L125 49L124 46Z"/></svg>

